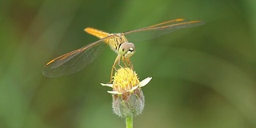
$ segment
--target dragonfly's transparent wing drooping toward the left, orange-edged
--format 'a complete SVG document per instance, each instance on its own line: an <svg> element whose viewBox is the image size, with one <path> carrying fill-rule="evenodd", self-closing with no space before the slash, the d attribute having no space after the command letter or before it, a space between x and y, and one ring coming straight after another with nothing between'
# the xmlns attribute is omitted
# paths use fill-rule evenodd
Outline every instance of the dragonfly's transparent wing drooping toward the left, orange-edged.
<svg viewBox="0 0 256 128"><path fill-rule="evenodd" d="M106 43L102 42L104 39L105 38L102 38L101 40L83 46L78 50L54 58L46 63L42 74L54 78L66 74L74 74L75 72L82 70L90 64L90 62L93 62L94 58L96 58L98 54L102 52L103 48L106 47Z"/></svg>

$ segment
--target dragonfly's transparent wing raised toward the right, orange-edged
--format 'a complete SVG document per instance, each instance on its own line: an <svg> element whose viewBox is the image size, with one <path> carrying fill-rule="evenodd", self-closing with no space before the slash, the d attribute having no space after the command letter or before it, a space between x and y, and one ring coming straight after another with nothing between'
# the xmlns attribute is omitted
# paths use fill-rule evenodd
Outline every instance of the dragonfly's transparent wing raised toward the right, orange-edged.
<svg viewBox="0 0 256 128"><path fill-rule="evenodd" d="M154 26L147 26L138 30L130 30L124 32L123 34L125 34L128 41L138 42L157 38L163 34L169 34L170 32L182 28L200 26L202 24L204 24L204 22L202 21L184 22L183 18L178 18L167 22L161 22Z"/></svg>

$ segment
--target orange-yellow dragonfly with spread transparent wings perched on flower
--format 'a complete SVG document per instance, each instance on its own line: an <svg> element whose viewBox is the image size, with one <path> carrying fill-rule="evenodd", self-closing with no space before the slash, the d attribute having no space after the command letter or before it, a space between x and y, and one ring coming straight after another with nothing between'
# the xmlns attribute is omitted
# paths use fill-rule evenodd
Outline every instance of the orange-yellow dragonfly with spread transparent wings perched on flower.
<svg viewBox="0 0 256 128"><path fill-rule="evenodd" d="M192 26L200 26L204 24L202 21L188 21L184 18L177 18L174 20L158 23L154 26L147 26L137 30L129 30L122 33L109 34L102 30L97 30L92 27L87 27L85 31L99 38L98 41L92 42L86 46L82 46L78 50L73 50L67 54L63 54L57 58L47 62L43 68L43 74L46 77L54 78L66 74L74 74L82 70L94 61L107 45L118 56L114 60L111 69L110 82L116 66L121 66L120 61L125 66L133 69L130 57L135 53L135 46L133 42L146 41L149 39L157 38L164 34L169 34L175 30L188 28Z"/></svg>

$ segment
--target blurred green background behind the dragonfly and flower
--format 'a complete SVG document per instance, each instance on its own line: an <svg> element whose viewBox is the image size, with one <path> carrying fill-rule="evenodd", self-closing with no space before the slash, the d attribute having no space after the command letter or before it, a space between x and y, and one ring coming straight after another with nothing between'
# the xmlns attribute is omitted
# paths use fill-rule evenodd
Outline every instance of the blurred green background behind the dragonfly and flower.
<svg viewBox="0 0 256 128"><path fill-rule="evenodd" d="M0 10L1 128L125 127L100 85L109 48L76 74L46 78L42 68L98 40L86 26L114 33L174 18L206 24L134 42L134 70L153 77L134 127L256 127L256 1L10 0Z"/></svg>

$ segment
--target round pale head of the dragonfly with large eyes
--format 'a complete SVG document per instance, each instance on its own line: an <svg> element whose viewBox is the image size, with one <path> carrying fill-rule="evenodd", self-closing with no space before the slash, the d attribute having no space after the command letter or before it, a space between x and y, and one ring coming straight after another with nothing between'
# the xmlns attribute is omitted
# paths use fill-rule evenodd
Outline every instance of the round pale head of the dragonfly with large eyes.
<svg viewBox="0 0 256 128"><path fill-rule="evenodd" d="M125 58L130 58L134 55L135 46L132 42L123 42L119 47L118 53L123 55Z"/></svg>

